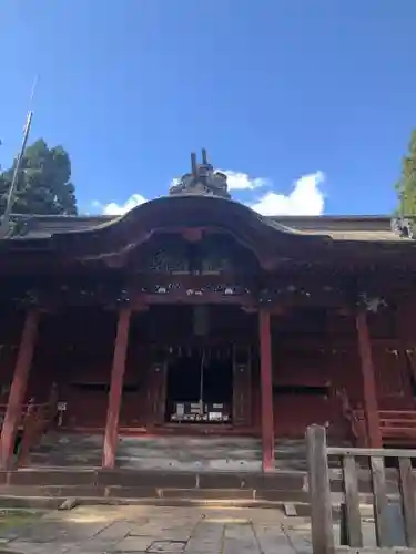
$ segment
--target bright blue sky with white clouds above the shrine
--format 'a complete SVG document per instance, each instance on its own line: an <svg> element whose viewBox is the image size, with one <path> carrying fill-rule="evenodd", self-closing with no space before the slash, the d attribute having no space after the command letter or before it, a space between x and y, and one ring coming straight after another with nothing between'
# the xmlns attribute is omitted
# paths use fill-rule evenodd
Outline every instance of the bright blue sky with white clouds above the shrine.
<svg viewBox="0 0 416 554"><path fill-rule="evenodd" d="M81 212L165 194L205 146L263 213L389 213L415 21L415 0L1 0L0 163L38 73L31 138L69 151Z"/></svg>

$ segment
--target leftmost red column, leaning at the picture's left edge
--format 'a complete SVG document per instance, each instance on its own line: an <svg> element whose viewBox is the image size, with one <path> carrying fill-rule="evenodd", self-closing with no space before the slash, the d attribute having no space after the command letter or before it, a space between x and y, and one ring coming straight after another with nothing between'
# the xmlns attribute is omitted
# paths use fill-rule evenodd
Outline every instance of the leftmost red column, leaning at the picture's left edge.
<svg viewBox="0 0 416 554"><path fill-rule="evenodd" d="M8 407L0 437L0 463L7 469L13 459L16 434L22 412L26 391L28 388L30 366L38 335L39 312L28 311L23 324L18 357L14 366L13 380L10 388Z"/></svg>

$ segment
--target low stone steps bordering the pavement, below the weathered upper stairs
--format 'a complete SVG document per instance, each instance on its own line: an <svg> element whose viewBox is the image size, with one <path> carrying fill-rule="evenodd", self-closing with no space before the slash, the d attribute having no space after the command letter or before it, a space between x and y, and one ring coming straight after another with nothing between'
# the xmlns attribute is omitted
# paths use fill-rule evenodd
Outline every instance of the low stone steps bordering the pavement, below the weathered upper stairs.
<svg viewBox="0 0 416 554"><path fill-rule="evenodd" d="M31 506L23 499L77 499L91 503L266 505L307 503L300 472L255 474L21 469L0 472L0 507ZM13 501L14 499L14 501Z"/></svg>

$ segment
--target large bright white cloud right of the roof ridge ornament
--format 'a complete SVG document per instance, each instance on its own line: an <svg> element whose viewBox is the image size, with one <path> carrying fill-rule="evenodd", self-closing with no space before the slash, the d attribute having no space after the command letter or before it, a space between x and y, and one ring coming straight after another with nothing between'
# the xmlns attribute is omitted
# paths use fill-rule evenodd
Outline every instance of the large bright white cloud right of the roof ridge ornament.
<svg viewBox="0 0 416 554"><path fill-rule="evenodd" d="M270 192L251 207L262 215L321 215L325 197L319 185L324 179L322 172L304 175L288 195Z"/></svg>

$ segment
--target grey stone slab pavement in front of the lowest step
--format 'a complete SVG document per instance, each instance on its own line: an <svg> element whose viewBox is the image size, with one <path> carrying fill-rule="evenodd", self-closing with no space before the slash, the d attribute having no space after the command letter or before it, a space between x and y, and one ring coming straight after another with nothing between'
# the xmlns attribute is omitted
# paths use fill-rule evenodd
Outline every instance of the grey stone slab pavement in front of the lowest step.
<svg viewBox="0 0 416 554"><path fill-rule="evenodd" d="M4 535L4 533L3 533ZM308 522L278 510L79 506L6 533L22 554L310 554Z"/></svg>

